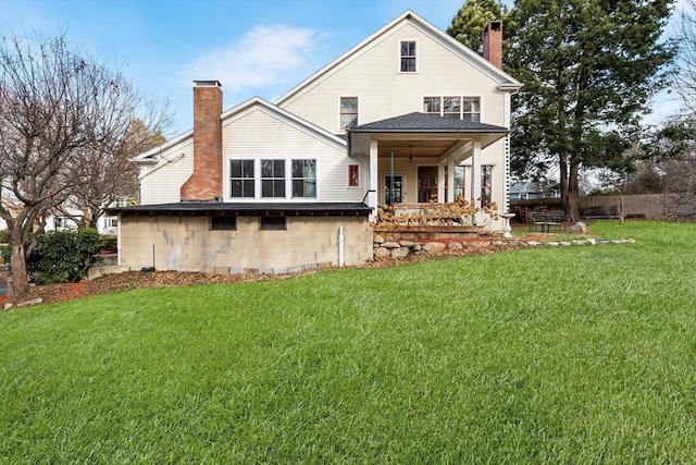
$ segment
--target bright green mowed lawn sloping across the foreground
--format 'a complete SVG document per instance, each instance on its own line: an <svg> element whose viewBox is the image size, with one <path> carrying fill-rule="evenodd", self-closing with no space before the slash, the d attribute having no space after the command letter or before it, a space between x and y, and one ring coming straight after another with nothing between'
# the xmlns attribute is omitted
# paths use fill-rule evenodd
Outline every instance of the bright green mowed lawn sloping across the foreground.
<svg viewBox="0 0 696 465"><path fill-rule="evenodd" d="M696 224L0 313L2 463L694 463Z"/></svg>

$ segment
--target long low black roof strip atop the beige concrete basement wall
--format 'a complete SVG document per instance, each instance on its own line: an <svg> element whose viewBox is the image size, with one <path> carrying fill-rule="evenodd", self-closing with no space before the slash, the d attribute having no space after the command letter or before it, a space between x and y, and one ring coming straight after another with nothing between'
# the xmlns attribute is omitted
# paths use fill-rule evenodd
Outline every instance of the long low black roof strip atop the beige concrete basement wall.
<svg viewBox="0 0 696 465"><path fill-rule="evenodd" d="M114 207L108 215L166 216L285 216L285 217L357 217L368 216L372 208L362 203L225 203L181 201L176 204Z"/></svg>

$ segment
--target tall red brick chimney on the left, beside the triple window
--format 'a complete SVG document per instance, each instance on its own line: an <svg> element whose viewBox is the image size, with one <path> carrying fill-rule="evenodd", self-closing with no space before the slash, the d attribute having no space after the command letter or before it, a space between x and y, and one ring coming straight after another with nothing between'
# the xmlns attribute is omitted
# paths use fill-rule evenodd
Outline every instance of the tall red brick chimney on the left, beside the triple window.
<svg viewBox="0 0 696 465"><path fill-rule="evenodd" d="M222 199L222 84L194 81L194 174L182 201Z"/></svg>

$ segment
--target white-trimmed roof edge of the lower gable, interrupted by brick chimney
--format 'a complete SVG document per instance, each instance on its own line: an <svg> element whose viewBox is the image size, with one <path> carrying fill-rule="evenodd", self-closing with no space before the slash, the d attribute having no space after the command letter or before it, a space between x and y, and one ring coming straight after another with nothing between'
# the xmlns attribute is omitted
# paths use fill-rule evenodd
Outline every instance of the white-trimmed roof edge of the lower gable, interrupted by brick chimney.
<svg viewBox="0 0 696 465"><path fill-rule="evenodd" d="M223 111L222 114L220 115L220 119L222 121L222 124L225 125L226 122L234 121L235 119L240 118L244 114L247 114L249 111L252 111L256 109L261 110L266 114L270 114L271 117L276 118L281 121L284 121L285 123L294 126L298 131L301 131L316 139L321 139L328 145L333 145L337 149L340 149L340 150L346 149L345 138L339 137L335 134L332 134L328 131L325 131L324 129L313 123L310 123L309 121L303 120L298 115L293 114L289 111L286 111L261 97L252 97L237 105L236 107L231 108L229 110ZM194 131L190 130L184 134L181 134L174 137L170 142L166 142L160 146L153 147L150 150L134 157L133 161L139 164L157 163L160 159L160 157L158 156L162 155L167 149L178 144L182 144L192 137L194 137Z"/></svg>

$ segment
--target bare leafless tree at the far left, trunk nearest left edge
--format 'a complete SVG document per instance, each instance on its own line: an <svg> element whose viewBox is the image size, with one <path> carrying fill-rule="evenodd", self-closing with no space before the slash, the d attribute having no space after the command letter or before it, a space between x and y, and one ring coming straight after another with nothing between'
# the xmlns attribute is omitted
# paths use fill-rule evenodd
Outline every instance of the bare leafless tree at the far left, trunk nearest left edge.
<svg viewBox="0 0 696 465"><path fill-rule="evenodd" d="M10 234L10 291L26 290L26 241L38 216L64 201L92 167L83 159L125 139L139 119L154 132L167 121L117 71L64 35L0 45L0 217ZM136 154L133 154L136 155Z"/></svg>

